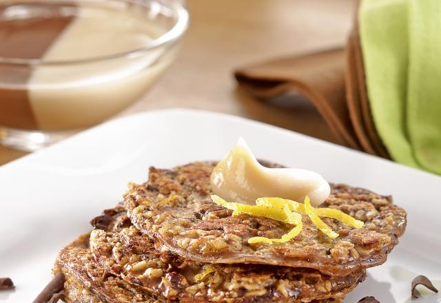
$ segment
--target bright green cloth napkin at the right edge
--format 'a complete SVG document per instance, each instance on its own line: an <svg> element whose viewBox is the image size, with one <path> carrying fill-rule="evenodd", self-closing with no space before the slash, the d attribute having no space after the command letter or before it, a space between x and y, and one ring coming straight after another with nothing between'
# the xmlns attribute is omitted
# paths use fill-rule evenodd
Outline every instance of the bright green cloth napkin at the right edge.
<svg viewBox="0 0 441 303"><path fill-rule="evenodd" d="M441 1L362 0L373 121L393 160L441 174Z"/></svg>

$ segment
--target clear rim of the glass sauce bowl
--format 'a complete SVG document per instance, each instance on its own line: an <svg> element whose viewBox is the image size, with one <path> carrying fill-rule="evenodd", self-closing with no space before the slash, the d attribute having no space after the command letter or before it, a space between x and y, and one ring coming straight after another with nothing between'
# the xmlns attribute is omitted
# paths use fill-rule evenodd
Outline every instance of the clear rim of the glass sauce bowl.
<svg viewBox="0 0 441 303"><path fill-rule="evenodd" d="M136 5L143 6L143 4L132 1L132 0L112 0L112 1L118 1L118 2L125 2L125 3L133 3ZM152 0L155 1L155 0ZM105 56L94 56L88 59L81 59L81 60L52 60L52 61L45 61L43 59L21 59L21 58L4 58L0 56L0 65L76 65L81 63L92 63L96 61L105 61L110 59L119 59L124 58L127 56L137 56L139 54L143 54L143 52L147 52L150 50L154 50L156 48L160 48L167 44L172 44L183 36L185 31L187 30L188 23L189 23L189 13L187 9L183 6L182 2L179 0L163 0L167 3L170 3L171 8L176 12L176 23L173 25L170 30L165 32L162 36L158 37L158 39L155 39L149 45L143 47L143 48L136 48L134 50L128 50L127 52L120 52ZM39 1L43 2L43 1ZM8 3L8 2L6 2Z"/></svg>

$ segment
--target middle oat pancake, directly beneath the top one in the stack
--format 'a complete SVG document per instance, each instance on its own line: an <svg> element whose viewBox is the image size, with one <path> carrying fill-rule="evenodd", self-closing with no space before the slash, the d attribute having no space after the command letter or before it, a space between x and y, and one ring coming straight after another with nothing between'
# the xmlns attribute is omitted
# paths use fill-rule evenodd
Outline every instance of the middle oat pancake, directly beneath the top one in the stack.
<svg viewBox="0 0 441 303"><path fill-rule="evenodd" d="M116 211L119 211L117 209ZM156 295L181 302L311 302L338 299L365 279L365 270L330 277L312 269L262 264L206 264L155 249L125 213L106 211L94 222L90 249L100 266ZM116 213L110 217L111 213ZM110 220L114 218L114 222ZM127 224L128 221L128 224Z"/></svg>

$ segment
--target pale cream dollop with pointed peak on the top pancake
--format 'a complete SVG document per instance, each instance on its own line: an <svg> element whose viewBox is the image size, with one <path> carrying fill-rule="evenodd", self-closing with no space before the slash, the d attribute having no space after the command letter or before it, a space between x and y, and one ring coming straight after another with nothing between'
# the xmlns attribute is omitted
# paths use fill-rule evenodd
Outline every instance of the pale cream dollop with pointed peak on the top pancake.
<svg viewBox="0 0 441 303"><path fill-rule="evenodd" d="M322 204L331 191L329 183L314 171L264 167L247 143L239 138L229 154L214 167L210 178L212 191L221 198L254 204L257 198L278 197L311 204Z"/></svg>

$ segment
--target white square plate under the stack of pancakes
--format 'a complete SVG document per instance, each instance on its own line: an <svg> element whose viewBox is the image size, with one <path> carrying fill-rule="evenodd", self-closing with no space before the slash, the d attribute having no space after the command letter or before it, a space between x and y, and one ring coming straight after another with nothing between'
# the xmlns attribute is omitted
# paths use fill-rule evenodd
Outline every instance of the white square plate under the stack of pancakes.
<svg viewBox="0 0 441 303"><path fill-rule="evenodd" d="M128 181L146 180L150 165L219 159L238 136L258 158L392 194L407 210L398 247L385 264L368 270L345 302L366 295L382 303L411 302L411 280L420 274L441 291L440 177L263 123L173 109L104 123L0 167L0 277L17 286L0 291L0 301L31 302L50 280L57 251L116 205ZM440 294L422 293L412 302L441 302Z"/></svg>

